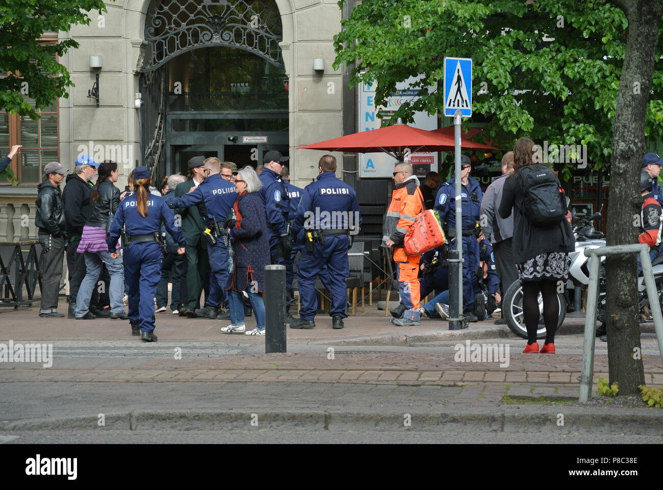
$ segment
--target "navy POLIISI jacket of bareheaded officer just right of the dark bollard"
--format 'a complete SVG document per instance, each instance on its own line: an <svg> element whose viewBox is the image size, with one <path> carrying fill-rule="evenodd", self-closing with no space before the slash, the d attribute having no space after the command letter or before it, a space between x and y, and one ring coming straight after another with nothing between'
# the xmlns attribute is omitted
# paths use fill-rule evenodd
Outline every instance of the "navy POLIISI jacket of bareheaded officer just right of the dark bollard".
<svg viewBox="0 0 663 490"><path fill-rule="evenodd" d="M304 240L304 230L359 228L361 213L355 189L337 179L334 172L323 172L318 180L304 187L297 207L293 232Z"/></svg>

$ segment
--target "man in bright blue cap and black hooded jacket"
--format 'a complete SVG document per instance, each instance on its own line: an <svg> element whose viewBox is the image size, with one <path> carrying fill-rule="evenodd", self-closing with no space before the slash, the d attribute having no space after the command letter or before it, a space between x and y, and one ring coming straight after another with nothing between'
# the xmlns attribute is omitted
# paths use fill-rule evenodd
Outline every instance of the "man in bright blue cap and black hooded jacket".
<svg viewBox="0 0 663 490"><path fill-rule="evenodd" d="M67 236L67 270L69 274L69 318L76 318L76 296L86 275L85 254L76 252L83 226L92 211L92 179L99 163L90 155L79 155L74 173L67 175L62 191L64 227Z"/></svg>

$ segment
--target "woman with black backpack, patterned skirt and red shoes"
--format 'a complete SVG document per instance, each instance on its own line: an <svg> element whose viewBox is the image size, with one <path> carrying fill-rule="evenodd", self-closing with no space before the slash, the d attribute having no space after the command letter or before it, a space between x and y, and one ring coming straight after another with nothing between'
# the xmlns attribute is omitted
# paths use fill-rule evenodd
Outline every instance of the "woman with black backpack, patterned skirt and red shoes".
<svg viewBox="0 0 663 490"><path fill-rule="evenodd" d="M499 205L505 219L514 213L513 259L522 282L522 313L528 341L523 353L555 353L558 283L566 283L575 239L566 220L566 197L548 165L535 163L534 141L520 138L513 149L514 172L507 178ZM540 155L540 153L539 153ZM540 161L540 159L537 159ZM543 297L546 342L539 351L536 331Z"/></svg>

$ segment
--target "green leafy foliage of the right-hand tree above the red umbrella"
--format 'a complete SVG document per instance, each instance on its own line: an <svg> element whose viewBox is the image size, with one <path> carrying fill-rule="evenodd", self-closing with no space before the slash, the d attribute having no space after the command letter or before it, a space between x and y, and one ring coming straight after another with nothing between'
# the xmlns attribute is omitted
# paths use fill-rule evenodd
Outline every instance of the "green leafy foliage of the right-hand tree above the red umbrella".
<svg viewBox="0 0 663 490"><path fill-rule="evenodd" d="M342 6L343 0L339 2ZM587 145L596 168L609 163L627 17L607 1L363 0L335 36L335 68L351 85L377 80L376 105L396 83L422 74L422 91L392 119L444 106L444 56L473 59L473 112L487 135L511 143ZM663 37L657 59L663 56ZM643 84L644 85L644 84ZM633 90L638 90L634 86ZM481 91L481 93L479 93ZM645 134L663 136L663 64L654 68ZM564 167L568 176L575 164Z"/></svg>

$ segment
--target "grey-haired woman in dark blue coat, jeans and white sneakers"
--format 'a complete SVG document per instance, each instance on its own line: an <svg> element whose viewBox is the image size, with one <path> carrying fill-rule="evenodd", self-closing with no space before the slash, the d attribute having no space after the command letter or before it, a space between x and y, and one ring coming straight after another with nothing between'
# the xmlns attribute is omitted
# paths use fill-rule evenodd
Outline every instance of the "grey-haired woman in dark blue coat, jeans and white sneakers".
<svg viewBox="0 0 663 490"><path fill-rule="evenodd" d="M258 194L262 187L252 167L244 167L237 174L237 201L235 222L227 221L233 239L234 267L228 280L230 325L221 328L223 333L245 332L243 291L255 312L256 328L245 335L265 335L265 266L271 264L269 255L269 230L263 199Z"/></svg>

